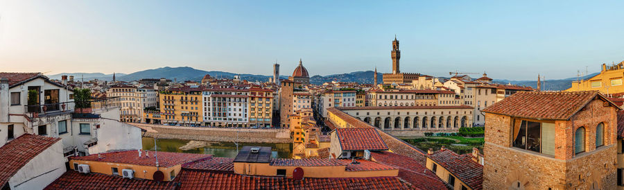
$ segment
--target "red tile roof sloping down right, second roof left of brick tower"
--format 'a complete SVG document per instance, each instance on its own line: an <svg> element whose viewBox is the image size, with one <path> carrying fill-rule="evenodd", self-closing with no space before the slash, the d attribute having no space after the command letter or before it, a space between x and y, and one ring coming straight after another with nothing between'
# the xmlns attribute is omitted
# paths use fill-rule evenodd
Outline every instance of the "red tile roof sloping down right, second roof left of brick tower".
<svg viewBox="0 0 624 190"><path fill-rule="evenodd" d="M388 151L372 152L375 162L394 166L399 169L399 178L421 189L446 189L446 184L420 162L411 157Z"/></svg>

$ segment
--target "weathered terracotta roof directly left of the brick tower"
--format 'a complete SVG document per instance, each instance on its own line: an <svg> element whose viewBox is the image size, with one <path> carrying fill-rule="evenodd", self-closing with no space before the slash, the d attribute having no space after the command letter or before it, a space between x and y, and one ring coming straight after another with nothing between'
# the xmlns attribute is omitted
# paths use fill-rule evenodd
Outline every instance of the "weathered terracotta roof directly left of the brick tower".
<svg viewBox="0 0 624 190"><path fill-rule="evenodd" d="M483 166L472 160L472 155L458 155L452 150L439 150L429 158L455 175L471 189L483 189Z"/></svg>

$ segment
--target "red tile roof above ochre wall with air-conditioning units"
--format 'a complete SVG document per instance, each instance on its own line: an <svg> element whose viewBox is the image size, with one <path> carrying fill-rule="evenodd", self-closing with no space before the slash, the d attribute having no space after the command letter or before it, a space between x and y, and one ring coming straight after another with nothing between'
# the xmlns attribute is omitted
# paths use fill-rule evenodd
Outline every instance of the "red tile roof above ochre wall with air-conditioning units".
<svg viewBox="0 0 624 190"><path fill-rule="evenodd" d="M99 154L99 157L98 155L88 155L83 157L71 157L71 159L95 162L112 162L119 164L135 164L140 166L155 166L156 157L154 156L154 153L154 151L148 151L148 153L144 151L143 153L141 153L141 157L139 157L139 153L137 152L137 150L126 150L113 153L102 153ZM167 152L158 152L157 155L158 165L166 168L176 166L178 164L186 164L196 161L198 159L211 157L210 155L202 154Z"/></svg>

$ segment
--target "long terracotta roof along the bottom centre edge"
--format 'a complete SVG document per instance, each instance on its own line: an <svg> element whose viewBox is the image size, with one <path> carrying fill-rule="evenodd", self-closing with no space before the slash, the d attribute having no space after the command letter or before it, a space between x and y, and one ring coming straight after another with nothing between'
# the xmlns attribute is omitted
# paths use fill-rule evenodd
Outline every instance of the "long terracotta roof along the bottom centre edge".
<svg viewBox="0 0 624 190"><path fill-rule="evenodd" d="M410 189L397 177L377 178L257 178L236 173L183 169L173 182L180 189Z"/></svg>

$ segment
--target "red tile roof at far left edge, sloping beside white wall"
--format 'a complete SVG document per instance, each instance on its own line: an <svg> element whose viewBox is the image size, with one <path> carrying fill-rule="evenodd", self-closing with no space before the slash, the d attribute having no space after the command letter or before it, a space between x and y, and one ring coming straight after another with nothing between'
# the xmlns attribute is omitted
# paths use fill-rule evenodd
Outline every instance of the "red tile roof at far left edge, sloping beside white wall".
<svg viewBox="0 0 624 190"><path fill-rule="evenodd" d="M60 138L24 134L0 147L0 184L8 180L34 157Z"/></svg>

